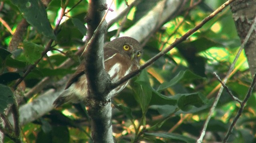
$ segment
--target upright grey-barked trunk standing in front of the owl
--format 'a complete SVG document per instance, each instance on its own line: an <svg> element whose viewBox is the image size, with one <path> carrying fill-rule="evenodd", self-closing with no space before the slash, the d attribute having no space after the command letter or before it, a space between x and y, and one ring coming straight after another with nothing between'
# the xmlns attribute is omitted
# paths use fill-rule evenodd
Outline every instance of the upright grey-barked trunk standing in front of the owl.
<svg viewBox="0 0 256 143"><path fill-rule="evenodd" d="M103 43L106 31L104 14L106 0L91 0L88 15L88 39L85 52L85 75L88 82L88 114L92 124L92 139L95 143L114 143L112 135L111 97L105 93L110 77L104 69ZM86 96L86 95L85 95Z"/></svg>

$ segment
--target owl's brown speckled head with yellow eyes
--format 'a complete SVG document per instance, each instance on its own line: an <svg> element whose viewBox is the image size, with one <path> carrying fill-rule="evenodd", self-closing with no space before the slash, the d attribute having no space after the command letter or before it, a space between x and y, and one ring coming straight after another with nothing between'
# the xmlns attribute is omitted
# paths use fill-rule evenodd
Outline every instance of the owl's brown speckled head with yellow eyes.
<svg viewBox="0 0 256 143"><path fill-rule="evenodd" d="M132 37L120 37L110 41L106 47L115 49L131 61L139 62L142 56L142 47L140 43Z"/></svg>

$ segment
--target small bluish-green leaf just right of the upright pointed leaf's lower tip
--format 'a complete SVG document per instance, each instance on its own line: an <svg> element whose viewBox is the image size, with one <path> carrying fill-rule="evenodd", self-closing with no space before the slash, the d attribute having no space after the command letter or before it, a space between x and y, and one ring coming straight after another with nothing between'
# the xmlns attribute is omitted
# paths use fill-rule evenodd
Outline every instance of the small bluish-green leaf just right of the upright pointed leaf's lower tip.
<svg viewBox="0 0 256 143"><path fill-rule="evenodd" d="M172 105L152 105L150 106L152 109L156 109L159 114L161 114L163 117L167 117L170 114L173 114L177 107Z"/></svg>

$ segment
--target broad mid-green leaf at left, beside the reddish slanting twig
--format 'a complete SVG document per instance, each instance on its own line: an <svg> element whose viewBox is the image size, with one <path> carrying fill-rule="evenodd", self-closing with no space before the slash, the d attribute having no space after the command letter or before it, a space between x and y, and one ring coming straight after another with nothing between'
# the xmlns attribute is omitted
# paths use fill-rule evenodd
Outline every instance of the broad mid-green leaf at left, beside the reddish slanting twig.
<svg viewBox="0 0 256 143"><path fill-rule="evenodd" d="M44 47L31 42L24 42L24 55L26 60L30 64L34 64L41 58L41 53L44 51Z"/></svg>

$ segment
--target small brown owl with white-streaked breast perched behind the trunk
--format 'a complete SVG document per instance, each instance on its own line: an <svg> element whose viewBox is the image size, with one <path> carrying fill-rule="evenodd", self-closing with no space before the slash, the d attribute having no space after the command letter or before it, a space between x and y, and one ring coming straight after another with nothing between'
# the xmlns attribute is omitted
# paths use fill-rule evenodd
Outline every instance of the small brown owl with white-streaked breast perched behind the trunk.
<svg viewBox="0 0 256 143"><path fill-rule="evenodd" d="M104 46L104 65L106 72L110 75L111 82L116 82L128 73L138 69L141 56L142 47L140 43L131 37L120 37L107 43ZM120 84L109 94L111 96L118 94L128 82ZM84 74L84 63L82 62L53 105L58 107L68 102L86 102L87 90L87 79Z"/></svg>

